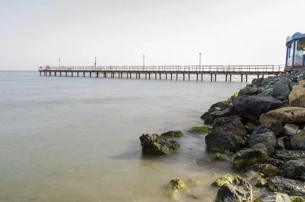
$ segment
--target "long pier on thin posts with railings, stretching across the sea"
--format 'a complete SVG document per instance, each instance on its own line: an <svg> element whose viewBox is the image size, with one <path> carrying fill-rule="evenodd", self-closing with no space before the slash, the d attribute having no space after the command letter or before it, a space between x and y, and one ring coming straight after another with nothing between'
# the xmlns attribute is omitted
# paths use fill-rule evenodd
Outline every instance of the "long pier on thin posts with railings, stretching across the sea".
<svg viewBox="0 0 305 202"><path fill-rule="evenodd" d="M242 66L102 66L102 67L39 67L40 76L110 77L136 79L210 80L224 75L225 81L248 81L248 75L278 75L286 73L284 65Z"/></svg>

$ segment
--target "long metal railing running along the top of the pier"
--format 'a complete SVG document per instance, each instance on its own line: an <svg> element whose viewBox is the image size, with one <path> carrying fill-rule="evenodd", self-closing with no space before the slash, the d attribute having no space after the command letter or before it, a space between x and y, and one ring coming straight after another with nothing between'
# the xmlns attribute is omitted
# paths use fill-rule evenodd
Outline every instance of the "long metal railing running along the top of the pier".
<svg viewBox="0 0 305 202"><path fill-rule="evenodd" d="M39 67L39 71L283 72L285 65Z"/></svg>

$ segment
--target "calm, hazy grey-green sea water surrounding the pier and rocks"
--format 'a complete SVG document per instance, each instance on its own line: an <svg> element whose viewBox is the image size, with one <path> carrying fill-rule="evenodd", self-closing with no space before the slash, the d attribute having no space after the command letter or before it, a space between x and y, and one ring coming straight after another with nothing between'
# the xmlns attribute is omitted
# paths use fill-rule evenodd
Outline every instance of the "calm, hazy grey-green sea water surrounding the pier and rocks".
<svg viewBox="0 0 305 202"><path fill-rule="evenodd" d="M203 125L200 116L246 83L45 77L0 72L0 201L171 201L171 179L213 201L210 184L231 170L209 162L204 135L180 150L142 155L139 136ZM177 197L177 201L192 201Z"/></svg>

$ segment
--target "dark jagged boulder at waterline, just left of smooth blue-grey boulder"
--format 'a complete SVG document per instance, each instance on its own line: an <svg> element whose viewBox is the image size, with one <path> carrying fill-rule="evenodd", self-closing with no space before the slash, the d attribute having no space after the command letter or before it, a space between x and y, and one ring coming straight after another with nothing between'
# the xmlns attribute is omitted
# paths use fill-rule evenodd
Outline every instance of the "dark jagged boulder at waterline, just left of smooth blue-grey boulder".
<svg viewBox="0 0 305 202"><path fill-rule="evenodd" d="M233 107L231 101L222 101L213 104L200 118L204 119L207 123L213 123L213 121L217 118L236 115L238 115L238 112L235 107Z"/></svg>

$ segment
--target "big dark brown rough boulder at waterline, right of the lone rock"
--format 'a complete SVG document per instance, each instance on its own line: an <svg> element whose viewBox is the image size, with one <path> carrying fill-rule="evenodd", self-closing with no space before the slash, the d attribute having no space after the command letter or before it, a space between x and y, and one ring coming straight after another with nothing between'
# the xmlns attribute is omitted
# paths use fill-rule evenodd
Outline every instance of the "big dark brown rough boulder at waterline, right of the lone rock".
<svg viewBox="0 0 305 202"><path fill-rule="evenodd" d="M205 136L206 148L216 152L234 151L239 147L245 135L246 130L241 124L241 118L237 118L208 133Z"/></svg>

